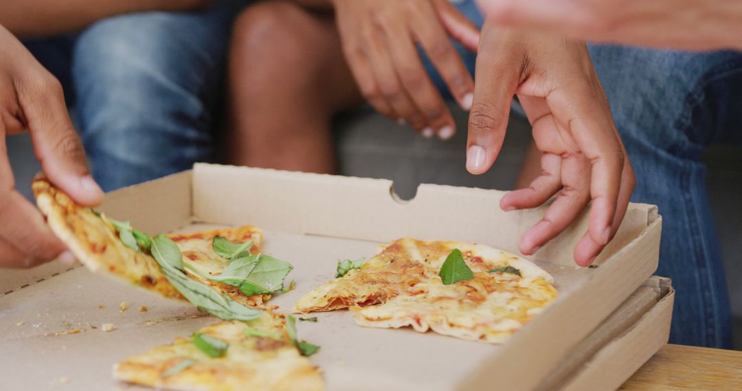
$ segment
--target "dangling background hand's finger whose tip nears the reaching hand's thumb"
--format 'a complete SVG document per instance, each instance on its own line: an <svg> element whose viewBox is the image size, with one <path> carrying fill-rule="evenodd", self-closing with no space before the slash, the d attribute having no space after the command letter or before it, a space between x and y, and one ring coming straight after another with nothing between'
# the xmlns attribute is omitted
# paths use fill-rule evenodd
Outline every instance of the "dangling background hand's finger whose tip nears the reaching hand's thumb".
<svg viewBox="0 0 742 391"><path fill-rule="evenodd" d="M446 0L444 0L447 3ZM449 9L453 10L445 11L448 15L456 14L463 19L466 19L456 7L448 4ZM410 21L413 30L416 33L418 41L420 41L425 53L433 62L433 65L439 71L441 78L445 81L450 90L451 95L456 98L459 105L464 110L470 110L473 103L474 93L474 81L464 65L464 61L459 52L453 47L450 39L448 38L445 30L441 29L439 24L431 23L430 20L435 20L436 14L433 10L430 10L430 15L423 13L415 19ZM467 19L468 20L468 19ZM430 87L433 84L430 83ZM440 99L439 93L436 91L436 96ZM440 99L442 102L443 100Z"/></svg>

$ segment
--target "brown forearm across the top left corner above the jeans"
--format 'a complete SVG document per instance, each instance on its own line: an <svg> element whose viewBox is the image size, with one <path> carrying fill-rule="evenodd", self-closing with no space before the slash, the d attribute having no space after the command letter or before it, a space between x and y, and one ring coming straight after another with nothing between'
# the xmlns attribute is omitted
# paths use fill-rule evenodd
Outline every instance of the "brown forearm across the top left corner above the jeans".
<svg viewBox="0 0 742 391"><path fill-rule="evenodd" d="M185 11L211 0L1 0L0 24L16 36L45 36L82 29L98 19L146 10Z"/></svg>

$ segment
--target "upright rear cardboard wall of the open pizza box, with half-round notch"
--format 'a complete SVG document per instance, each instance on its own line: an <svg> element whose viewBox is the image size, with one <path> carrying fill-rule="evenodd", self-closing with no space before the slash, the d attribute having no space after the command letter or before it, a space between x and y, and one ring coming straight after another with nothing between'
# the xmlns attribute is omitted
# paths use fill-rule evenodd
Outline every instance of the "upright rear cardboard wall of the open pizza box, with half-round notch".
<svg viewBox="0 0 742 391"><path fill-rule="evenodd" d="M421 184L415 198L405 201L393 193L393 183L386 179L214 164L194 166L194 216L198 221L251 221L284 232L378 242L402 237L468 241L517 254L520 236L542 218L548 205L506 213L499 207L505 193ZM252 207L234 207L242 204ZM631 204L619 233L597 262L609 258L645 230L652 213L657 215L654 206ZM574 265L571 250L587 224L585 211L531 258Z"/></svg>

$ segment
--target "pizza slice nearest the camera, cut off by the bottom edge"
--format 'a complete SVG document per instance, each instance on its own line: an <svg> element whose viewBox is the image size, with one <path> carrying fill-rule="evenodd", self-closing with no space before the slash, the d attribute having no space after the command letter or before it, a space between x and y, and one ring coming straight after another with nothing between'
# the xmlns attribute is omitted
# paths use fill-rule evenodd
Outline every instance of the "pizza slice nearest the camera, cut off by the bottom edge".
<svg viewBox="0 0 742 391"><path fill-rule="evenodd" d="M171 390L322 390L292 339L280 315L221 321L116 364L114 378Z"/></svg>

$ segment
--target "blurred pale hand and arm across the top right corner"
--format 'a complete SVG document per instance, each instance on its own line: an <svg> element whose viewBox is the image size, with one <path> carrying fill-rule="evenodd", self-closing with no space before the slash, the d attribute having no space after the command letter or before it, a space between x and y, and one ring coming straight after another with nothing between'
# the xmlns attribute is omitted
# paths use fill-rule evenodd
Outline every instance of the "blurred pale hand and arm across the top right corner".
<svg viewBox="0 0 742 391"><path fill-rule="evenodd" d="M729 0L477 0L498 24L591 41L742 49L742 3Z"/></svg>

